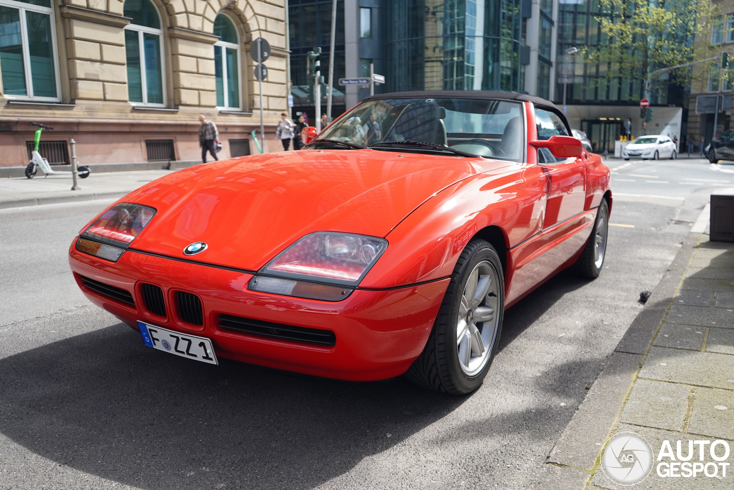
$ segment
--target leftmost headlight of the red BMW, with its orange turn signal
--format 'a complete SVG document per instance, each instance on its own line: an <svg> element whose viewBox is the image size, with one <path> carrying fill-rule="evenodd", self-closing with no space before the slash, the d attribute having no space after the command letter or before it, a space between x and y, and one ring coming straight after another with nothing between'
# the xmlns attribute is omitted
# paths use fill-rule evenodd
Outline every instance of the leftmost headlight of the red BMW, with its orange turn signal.
<svg viewBox="0 0 734 490"><path fill-rule="evenodd" d="M142 228L145 228L150 223L150 220L155 215L156 210L148 206L131 203L116 204L98 217L87 229L81 231L80 235L81 237L91 238L98 242L122 247L122 249L118 248L117 250L124 250L128 248L130 242L137 237L140 231L142 231ZM92 253L90 246L83 244L83 248L79 248L79 242L81 242L81 239L77 241L77 250ZM89 242L89 240L84 240L84 242ZM98 248L99 251L104 251L100 252L104 253L104 255L100 253L92 253L92 255L111 260L108 258L108 256L114 256L113 251L109 250L111 248ZM119 258L120 255L117 255L117 259Z"/></svg>

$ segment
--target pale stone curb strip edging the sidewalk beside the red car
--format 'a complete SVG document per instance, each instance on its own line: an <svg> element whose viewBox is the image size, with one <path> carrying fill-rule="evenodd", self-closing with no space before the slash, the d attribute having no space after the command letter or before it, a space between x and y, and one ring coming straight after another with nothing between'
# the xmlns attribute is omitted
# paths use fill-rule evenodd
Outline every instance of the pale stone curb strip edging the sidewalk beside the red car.
<svg viewBox="0 0 734 490"><path fill-rule="evenodd" d="M700 238L700 233L689 233L683 239L675 259L535 475L531 489L586 489L603 444L611 435L634 376L644 363L644 354L672 304Z"/></svg>

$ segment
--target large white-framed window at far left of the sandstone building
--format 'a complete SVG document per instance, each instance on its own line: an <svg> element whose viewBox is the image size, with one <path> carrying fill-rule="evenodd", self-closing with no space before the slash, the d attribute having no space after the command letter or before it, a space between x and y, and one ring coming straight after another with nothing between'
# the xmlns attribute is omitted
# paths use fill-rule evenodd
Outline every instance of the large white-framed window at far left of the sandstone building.
<svg viewBox="0 0 734 490"><path fill-rule="evenodd" d="M59 101L55 40L50 0L0 0L0 71L7 98Z"/></svg>

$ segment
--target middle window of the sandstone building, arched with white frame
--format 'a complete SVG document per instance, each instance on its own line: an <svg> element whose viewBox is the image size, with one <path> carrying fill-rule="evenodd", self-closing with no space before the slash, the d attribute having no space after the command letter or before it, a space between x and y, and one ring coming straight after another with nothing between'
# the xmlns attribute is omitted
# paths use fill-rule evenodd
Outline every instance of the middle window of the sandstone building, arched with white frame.
<svg viewBox="0 0 734 490"><path fill-rule="evenodd" d="M123 10L132 21L125 27L128 58L128 100L164 106L161 18L150 0L126 0Z"/></svg>

